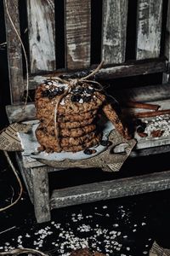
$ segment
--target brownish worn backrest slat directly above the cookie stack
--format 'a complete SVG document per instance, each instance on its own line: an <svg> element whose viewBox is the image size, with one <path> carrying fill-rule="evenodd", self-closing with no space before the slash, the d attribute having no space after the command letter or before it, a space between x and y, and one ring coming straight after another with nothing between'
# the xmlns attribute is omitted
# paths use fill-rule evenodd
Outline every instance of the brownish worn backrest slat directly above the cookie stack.
<svg viewBox="0 0 170 256"><path fill-rule="evenodd" d="M90 0L65 0L65 65L69 69L90 64L90 16Z"/></svg>

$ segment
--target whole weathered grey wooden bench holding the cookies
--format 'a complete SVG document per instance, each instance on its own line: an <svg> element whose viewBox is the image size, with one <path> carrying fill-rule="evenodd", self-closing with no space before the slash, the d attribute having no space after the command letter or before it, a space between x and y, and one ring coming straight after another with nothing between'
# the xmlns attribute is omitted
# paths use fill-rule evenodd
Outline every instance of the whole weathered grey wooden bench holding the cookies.
<svg viewBox="0 0 170 256"><path fill-rule="evenodd" d="M11 105L10 123L35 119L33 102L23 113L26 94L26 60L29 90L35 90L44 75L90 72L101 60L104 67L97 80L109 80L110 90L125 101L167 102L170 100L170 1L168 0L3 0L8 45ZM11 22L12 21L12 22ZM161 84L117 90L117 79L162 74ZM120 97L121 93L121 97ZM144 142L132 155L168 152L170 140ZM54 189L49 195L48 174L58 171L39 161L16 154L20 172L35 207L37 222L50 220L57 207L136 195L170 188L170 171L139 177L114 179Z"/></svg>

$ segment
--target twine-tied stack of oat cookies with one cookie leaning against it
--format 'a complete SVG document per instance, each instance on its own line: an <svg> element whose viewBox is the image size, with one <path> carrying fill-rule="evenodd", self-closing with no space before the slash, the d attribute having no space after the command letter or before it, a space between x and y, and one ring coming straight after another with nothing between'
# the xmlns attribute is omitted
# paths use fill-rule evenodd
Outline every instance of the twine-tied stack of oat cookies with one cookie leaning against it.
<svg viewBox="0 0 170 256"><path fill-rule="evenodd" d="M101 108L125 134L115 111L105 105L104 92L84 81L49 79L37 87L35 105L40 120L36 130L41 145L38 149L48 153L77 152L98 145L102 137L97 125Z"/></svg>

